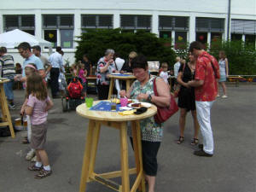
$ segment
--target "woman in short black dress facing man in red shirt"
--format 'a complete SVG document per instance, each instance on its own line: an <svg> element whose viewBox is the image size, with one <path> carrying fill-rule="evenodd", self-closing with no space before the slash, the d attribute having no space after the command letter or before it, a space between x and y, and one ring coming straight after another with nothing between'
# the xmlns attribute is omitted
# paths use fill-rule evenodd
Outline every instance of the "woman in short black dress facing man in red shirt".
<svg viewBox="0 0 256 192"><path fill-rule="evenodd" d="M189 52L189 62L186 64L184 62L178 70L177 83L181 85L177 106L180 108L179 116L179 131L180 136L177 140L177 143L183 143L184 141L184 129L186 123L186 115L191 110L192 117L194 119L194 137L191 141L191 145L198 144L198 131L199 124L196 118L195 111L195 90L194 88L189 87L188 82L195 77L195 63L196 60L193 55Z"/></svg>

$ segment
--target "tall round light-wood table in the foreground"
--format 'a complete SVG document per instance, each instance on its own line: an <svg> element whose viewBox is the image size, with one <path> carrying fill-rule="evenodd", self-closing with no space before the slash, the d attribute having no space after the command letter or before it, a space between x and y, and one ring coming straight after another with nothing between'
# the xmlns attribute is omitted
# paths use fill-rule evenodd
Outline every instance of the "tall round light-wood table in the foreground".
<svg viewBox="0 0 256 192"><path fill-rule="evenodd" d="M99 102L99 101L97 101ZM94 102L96 104L97 102ZM108 186L111 189L120 192L136 192L139 188L145 192L145 183L143 177L143 157L142 157L142 143L141 143L141 129L139 120L152 117L157 111L157 108L152 105L148 108L146 113L136 115L125 115L122 116L117 112L102 112L92 111L86 108L85 104L79 105L77 113L84 118L90 119L89 129L87 131L87 137L84 148L84 160L80 178L79 192L84 192L86 189L86 183L96 181ZM127 121L131 121L133 147L136 160L136 168L129 169L128 163L128 144L127 144ZM106 172L106 173L95 173L95 160L96 150L99 142L99 135L101 125L107 125L114 129L119 130L120 137L120 156L121 156L121 171ZM137 178L130 190L130 174L137 173ZM122 184L115 183L109 178L122 177Z"/></svg>

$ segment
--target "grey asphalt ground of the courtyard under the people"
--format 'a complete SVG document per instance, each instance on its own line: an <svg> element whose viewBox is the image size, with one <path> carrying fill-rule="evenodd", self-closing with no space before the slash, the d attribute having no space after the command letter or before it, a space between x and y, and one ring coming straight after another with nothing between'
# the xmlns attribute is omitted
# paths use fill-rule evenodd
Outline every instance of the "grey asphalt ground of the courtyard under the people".
<svg viewBox="0 0 256 192"><path fill-rule="evenodd" d="M23 91L15 90L20 106ZM33 178L26 167L28 146L21 144L26 131L15 139L0 137L1 192L76 192L88 120L75 112L61 113L61 100L55 99L49 113L48 147L53 174L42 180ZM192 137L191 115L187 118L185 142L178 137L178 114L165 125L165 137L158 155L157 192L255 192L256 191L256 86L229 86L229 98L219 98L212 108L215 154L212 158L197 157L189 144ZM18 110L12 116L18 117ZM119 133L103 127L96 157L96 172L119 170ZM200 137L201 139L201 137ZM129 162L134 166L131 146ZM134 177L131 177L134 180ZM119 179L117 179L119 181ZM112 191L101 184L89 183L87 191Z"/></svg>

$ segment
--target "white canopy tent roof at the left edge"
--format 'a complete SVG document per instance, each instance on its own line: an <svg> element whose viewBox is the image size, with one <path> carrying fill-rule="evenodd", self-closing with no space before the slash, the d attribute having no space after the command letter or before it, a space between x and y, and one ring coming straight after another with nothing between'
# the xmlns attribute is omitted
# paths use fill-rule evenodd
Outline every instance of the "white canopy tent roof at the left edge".
<svg viewBox="0 0 256 192"><path fill-rule="evenodd" d="M52 46L49 41L45 41L43 38L38 38L27 32L22 32L19 29L0 34L0 46L14 49L22 42L27 42L31 46L39 45L41 47L49 47L49 49Z"/></svg>

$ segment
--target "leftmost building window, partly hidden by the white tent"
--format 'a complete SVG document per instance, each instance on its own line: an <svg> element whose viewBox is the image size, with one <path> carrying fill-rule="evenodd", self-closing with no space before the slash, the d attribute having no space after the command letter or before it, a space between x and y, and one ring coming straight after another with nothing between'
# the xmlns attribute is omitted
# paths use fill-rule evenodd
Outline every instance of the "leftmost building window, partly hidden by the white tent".
<svg viewBox="0 0 256 192"><path fill-rule="evenodd" d="M3 28L5 32L20 29L32 35L35 33L34 15L3 15Z"/></svg>

